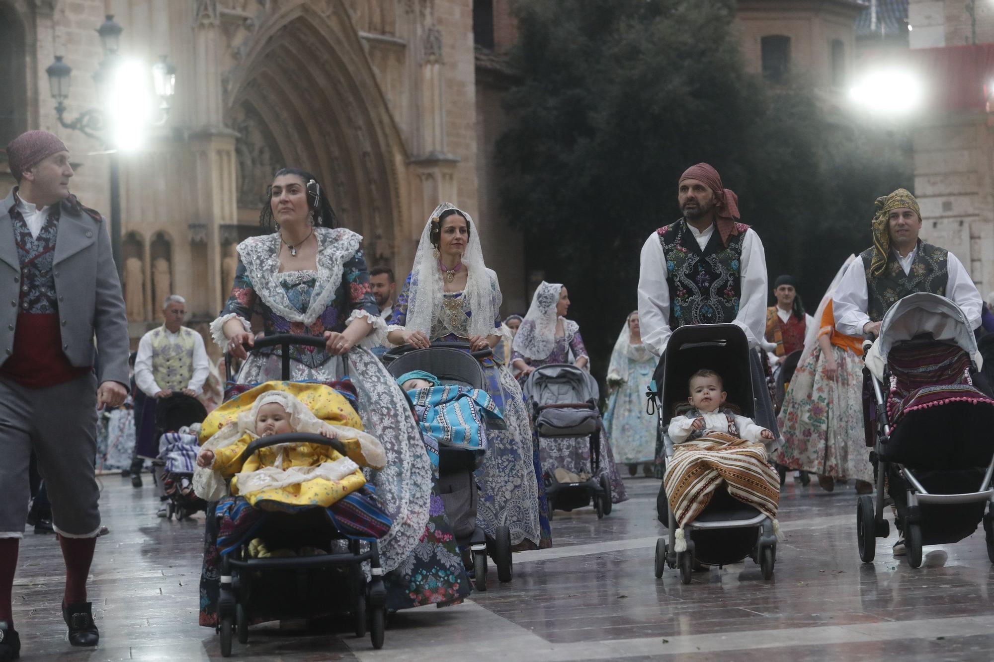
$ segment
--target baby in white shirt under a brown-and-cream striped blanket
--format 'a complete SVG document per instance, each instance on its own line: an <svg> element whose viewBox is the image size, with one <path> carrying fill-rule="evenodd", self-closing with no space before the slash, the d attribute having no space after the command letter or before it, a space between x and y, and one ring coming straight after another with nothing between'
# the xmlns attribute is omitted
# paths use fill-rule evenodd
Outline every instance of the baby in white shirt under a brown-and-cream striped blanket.
<svg viewBox="0 0 994 662"><path fill-rule="evenodd" d="M769 517L779 534L780 481L766 461L763 444L773 440L773 433L725 406L728 394L715 371L697 371L689 387L691 409L670 420L675 449L663 477L670 508L681 527L675 532L674 551L686 551L684 525L697 518L723 483L731 496Z"/></svg>

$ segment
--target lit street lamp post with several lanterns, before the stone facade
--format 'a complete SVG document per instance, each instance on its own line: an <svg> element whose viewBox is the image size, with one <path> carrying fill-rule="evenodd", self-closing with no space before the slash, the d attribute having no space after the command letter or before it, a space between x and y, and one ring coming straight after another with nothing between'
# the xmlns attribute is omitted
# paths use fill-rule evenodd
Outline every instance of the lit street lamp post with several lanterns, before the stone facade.
<svg viewBox="0 0 994 662"><path fill-rule="evenodd" d="M107 14L106 20L97 28L96 33L100 36L100 45L103 47L103 60L93 74L93 83L96 84L100 105L83 110L73 120L66 118L66 99L69 98L73 68L63 62L63 56L56 56L55 62L45 70L49 76L52 98L56 101L59 123L98 140L110 158L110 250L121 282L123 282L124 260L121 252L120 151L126 145L122 144L120 135L113 135L114 129L117 128L115 120L117 124L129 123L129 128L132 130L161 126L169 116L170 103L176 89L176 68L169 63L166 56L160 56L159 62L151 68L155 94L160 100L158 119L144 122L144 126L137 126L135 122L141 123L142 120L140 112L132 113L132 108L114 107L114 104L120 104L123 100L134 103L137 109L144 100L140 98L144 90L141 84L135 84L133 88L128 85L140 82L122 80L123 67L118 55L122 32L124 28L114 21L113 14ZM127 88L122 89L124 86Z"/></svg>

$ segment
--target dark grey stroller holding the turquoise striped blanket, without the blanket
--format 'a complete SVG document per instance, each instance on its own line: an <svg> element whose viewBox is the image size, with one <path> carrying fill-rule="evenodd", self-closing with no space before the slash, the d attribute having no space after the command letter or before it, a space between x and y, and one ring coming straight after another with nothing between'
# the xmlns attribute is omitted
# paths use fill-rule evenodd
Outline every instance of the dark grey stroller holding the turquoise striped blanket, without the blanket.
<svg viewBox="0 0 994 662"><path fill-rule="evenodd" d="M401 345L388 350L383 361L394 377L413 370L422 370L438 378L442 384L457 384L471 389L483 389L483 369L478 359L491 355L489 349L467 353L468 343L435 342L426 349ZM507 426L503 420L486 418L490 429ZM456 544L469 548L473 558L473 585L487 589L487 555L497 566L497 579L510 581L513 574L511 529L498 525L493 538L488 538L476 521L479 488L473 472L483 464L484 451L463 447L438 448L438 492L445 504L445 513L452 521Z"/></svg>

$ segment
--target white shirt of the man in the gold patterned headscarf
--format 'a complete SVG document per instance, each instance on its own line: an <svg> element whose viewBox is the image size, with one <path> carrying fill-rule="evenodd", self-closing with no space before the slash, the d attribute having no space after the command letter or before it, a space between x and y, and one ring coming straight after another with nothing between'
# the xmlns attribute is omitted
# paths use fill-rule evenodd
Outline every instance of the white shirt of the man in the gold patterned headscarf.
<svg viewBox="0 0 994 662"><path fill-rule="evenodd" d="M918 248L915 246L905 257L897 251L894 256L901 264L907 275L911 271L911 263ZM980 311L983 301L973 280L966 272L963 263L951 252L947 253L946 270L948 275L945 282L945 296L963 309L971 329L980 326ZM839 281L839 286L832 296L832 311L835 313L835 328L848 336L862 338L863 327L870 319L867 309L870 307L870 295L867 292L867 274L863 267L863 259L859 256L853 260L846 273Z"/></svg>

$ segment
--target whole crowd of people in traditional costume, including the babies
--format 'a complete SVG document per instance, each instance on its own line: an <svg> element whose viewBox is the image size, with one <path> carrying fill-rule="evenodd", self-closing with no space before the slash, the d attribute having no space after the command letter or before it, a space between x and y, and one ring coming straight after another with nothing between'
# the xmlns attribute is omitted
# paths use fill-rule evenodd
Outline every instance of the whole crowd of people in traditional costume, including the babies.
<svg viewBox="0 0 994 662"><path fill-rule="evenodd" d="M425 220L398 287L390 268L368 268L363 238L339 226L321 182L284 168L260 210L263 232L238 246L234 285L210 324L219 349L239 364L226 390L203 338L183 326L186 301L178 295L162 302L164 323L140 339L129 370L106 224L70 194L68 150L53 134L31 131L7 151L18 187L0 209L0 232L16 239L0 244L0 268L10 272L0 287L14 304L0 325L7 354L0 428L8 444L0 480L8 495L24 498L0 507L0 660L20 651L10 598L29 494L37 491L31 464L45 476L48 517L66 562L69 641L95 645L85 579L105 529L94 458L104 469L126 469L139 486L146 460L161 456L164 402L187 399L206 416L184 432L197 444L193 484L211 501L203 625L219 622L221 567L236 546L263 558L329 552L273 549L252 538L274 512L320 511L346 538L376 541L386 604L397 610L451 604L470 592L473 569L439 491L442 446L483 453L475 516L490 537L508 528L515 551L553 544L551 485L593 479L609 485L611 502L625 501L619 468L662 478L660 503L681 524L724 485L733 497L760 504L775 527L774 464L815 474L824 489L840 480L872 489L861 345L879 332L891 306L925 291L954 301L973 328L990 314L956 256L919 239L920 210L904 189L877 201L873 247L850 256L808 314L792 276L768 286L762 243L742 222L736 194L712 166L697 164L678 182L682 218L653 232L641 250L637 309L621 324L607 366L603 425L590 443L547 437L533 425L522 384L548 366L590 370L580 327L568 317L567 286L543 281L525 315L502 317L498 275L484 261L474 220L441 203ZM701 366L686 385L686 406L669 423L677 450L665 462L663 435L645 413L646 385L674 331L723 323L739 327L747 342L745 380L755 411L738 414L726 402L726 378ZM278 334L313 342L255 347L259 337ZM478 361L482 389L449 387L423 371L397 378L381 359L390 349L446 341L464 343ZM788 367L780 403L769 385ZM64 403L58 417L44 415L53 401ZM486 417L503 424L486 427ZM341 451L319 442L251 445L281 433L322 435ZM156 481L164 482L161 472Z"/></svg>

